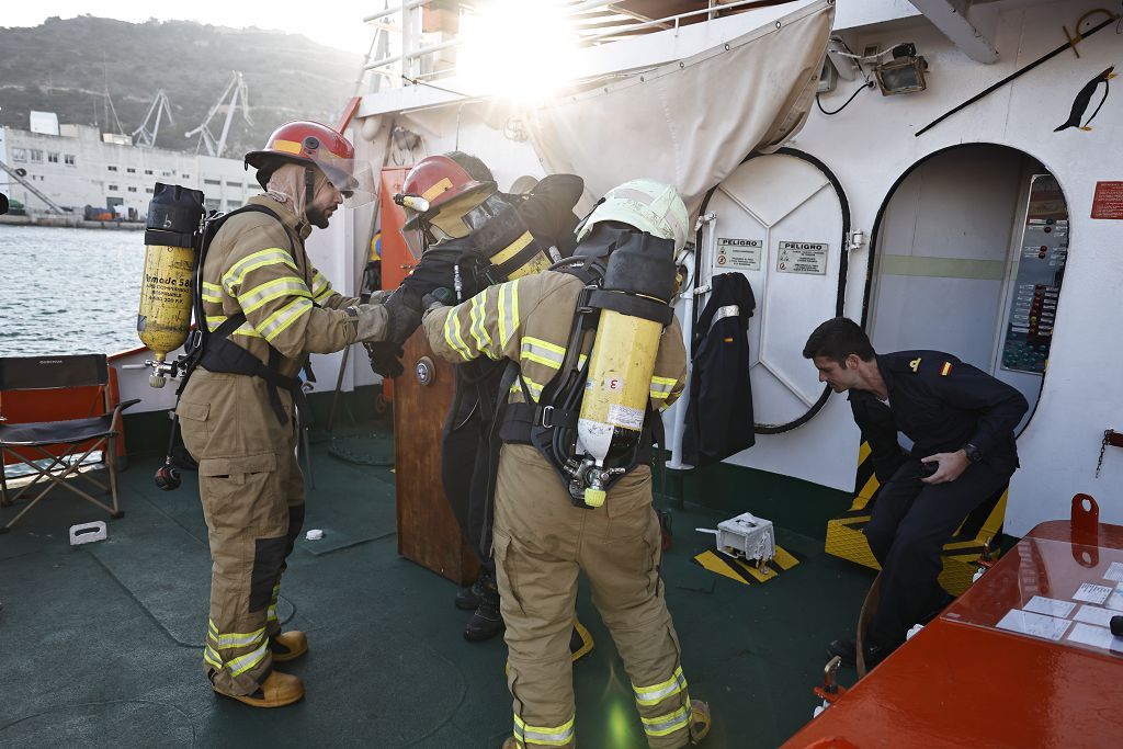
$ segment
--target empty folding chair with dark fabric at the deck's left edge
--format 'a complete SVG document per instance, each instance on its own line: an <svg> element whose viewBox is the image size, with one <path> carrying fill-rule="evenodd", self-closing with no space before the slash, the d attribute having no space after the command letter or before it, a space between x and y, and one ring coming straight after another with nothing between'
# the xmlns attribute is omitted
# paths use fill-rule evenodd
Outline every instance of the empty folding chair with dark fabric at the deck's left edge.
<svg viewBox="0 0 1123 749"><path fill-rule="evenodd" d="M67 390L69 393L65 392ZM44 393L49 396L48 410L53 417L66 418L7 423L8 418L15 418L13 411L22 410L22 418L28 415L27 408L12 407L20 403L21 394L25 401L34 398L34 391L55 391ZM39 402L46 403L42 395ZM47 484L19 514L0 528L0 533L8 532L20 518L58 486L95 504L111 518L122 517L125 513L117 502L117 436L121 411L136 403L139 403L139 399L113 403L109 385L109 363L104 354L0 358L0 504L10 505L44 482ZM6 412L10 415L6 417ZM101 450L101 463L109 472L108 486L90 476L89 472L81 471L86 467L83 464L94 450ZM9 457L29 466L35 475L30 483L13 495L9 495L8 491ZM108 491L113 505L109 506L94 499L70 481L77 477Z"/></svg>

